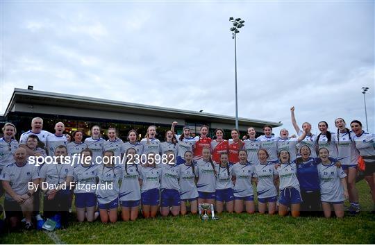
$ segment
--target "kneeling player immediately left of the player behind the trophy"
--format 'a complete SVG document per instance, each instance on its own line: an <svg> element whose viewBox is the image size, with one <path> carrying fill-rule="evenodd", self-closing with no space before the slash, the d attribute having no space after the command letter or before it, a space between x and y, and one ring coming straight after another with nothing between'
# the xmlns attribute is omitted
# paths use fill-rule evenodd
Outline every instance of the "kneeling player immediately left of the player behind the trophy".
<svg viewBox="0 0 375 245"><path fill-rule="evenodd" d="M185 162L180 164L180 195L181 195L181 214L185 215L188 210L186 203L190 204L190 212L198 212L198 190L195 184L195 169L192 162L192 151L185 151Z"/></svg>

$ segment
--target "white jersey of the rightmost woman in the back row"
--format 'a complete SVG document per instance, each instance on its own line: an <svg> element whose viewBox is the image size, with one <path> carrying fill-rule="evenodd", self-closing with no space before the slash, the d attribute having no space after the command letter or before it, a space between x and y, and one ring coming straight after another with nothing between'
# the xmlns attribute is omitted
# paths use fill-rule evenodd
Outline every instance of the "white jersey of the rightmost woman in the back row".
<svg viewBox="0 0 375 245"><path fill-rule="evenodd" d="M375 135L363 132L360 136L354 135L356 149L368 163L375 163Z"/></svg>

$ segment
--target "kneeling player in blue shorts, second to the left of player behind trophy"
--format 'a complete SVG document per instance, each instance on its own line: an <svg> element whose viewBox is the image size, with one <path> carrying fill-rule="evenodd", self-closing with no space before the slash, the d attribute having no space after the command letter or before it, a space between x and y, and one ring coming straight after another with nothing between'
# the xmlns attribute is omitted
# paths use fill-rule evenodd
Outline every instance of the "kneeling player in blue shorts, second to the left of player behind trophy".
<svg viewBox="0 0 375 245"><path fill-rule="evenodd" d="M180 213L180 185L178 178L180 177L180 168L174 162L174 151L167 151L167 163L161 163L161 181L160 181L160 214L168 216L169 210L173 216Z"/></svg>

